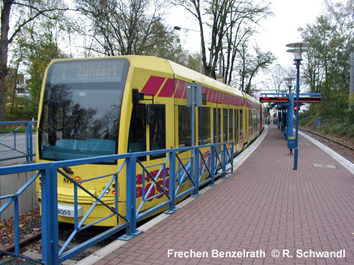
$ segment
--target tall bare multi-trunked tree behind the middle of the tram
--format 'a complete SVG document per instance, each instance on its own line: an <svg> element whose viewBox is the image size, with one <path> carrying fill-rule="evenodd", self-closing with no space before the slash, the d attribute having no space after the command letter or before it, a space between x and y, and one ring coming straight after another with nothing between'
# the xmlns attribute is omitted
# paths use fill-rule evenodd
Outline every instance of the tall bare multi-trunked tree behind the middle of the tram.
<svg viewBox="0 0 354 265"><path fill-rule="evenodd" d="M271 12L266 1L251 0L173 0L173 4L183 6L200 25L202 37L202 64L207 76L215 76L215 69L221 54L224 61L222 74L225 83L232 83L236 56L241 43L255 33L255 26ZM207 16L202 16L206 14ZM203 20L204 19L204 20ZM205 42L207 25L211 31L210 42ZM207 61L206 45L210 45L210 59Z"/></svg>

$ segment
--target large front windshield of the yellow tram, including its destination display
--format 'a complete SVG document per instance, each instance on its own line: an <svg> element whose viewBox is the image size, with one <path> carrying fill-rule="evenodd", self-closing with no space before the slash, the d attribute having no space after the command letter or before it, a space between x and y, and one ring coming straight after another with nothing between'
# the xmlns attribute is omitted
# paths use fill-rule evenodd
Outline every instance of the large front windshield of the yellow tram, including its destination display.
<svg viewBox="0 0 354 265"><path fill-rule="evenodd" d="M117 152L128 69L127 59L57 61L50 66L38 127L40 159Z"/></svg>

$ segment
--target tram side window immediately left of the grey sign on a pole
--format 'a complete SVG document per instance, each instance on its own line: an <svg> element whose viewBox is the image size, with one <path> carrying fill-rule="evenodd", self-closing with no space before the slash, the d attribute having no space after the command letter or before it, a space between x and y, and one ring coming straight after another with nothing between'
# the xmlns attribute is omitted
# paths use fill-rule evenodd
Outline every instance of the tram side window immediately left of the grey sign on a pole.
<svg viewBox="0 0 354 265"><path fill-rule="evenodd" d="M178 106L178 147L191 145L190 107Z"/></svg>

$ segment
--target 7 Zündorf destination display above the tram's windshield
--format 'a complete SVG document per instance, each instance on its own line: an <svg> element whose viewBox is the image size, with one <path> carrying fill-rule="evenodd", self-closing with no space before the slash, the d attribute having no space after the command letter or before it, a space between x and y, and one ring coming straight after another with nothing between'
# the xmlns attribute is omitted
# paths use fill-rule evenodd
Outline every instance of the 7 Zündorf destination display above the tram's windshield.
<svg viewBox="0 0 354 265"><path fill-rule="evenodd" d="M50 66L48 80L51 83L120 82L127 67L127 59L57 61Z"/></svg>

